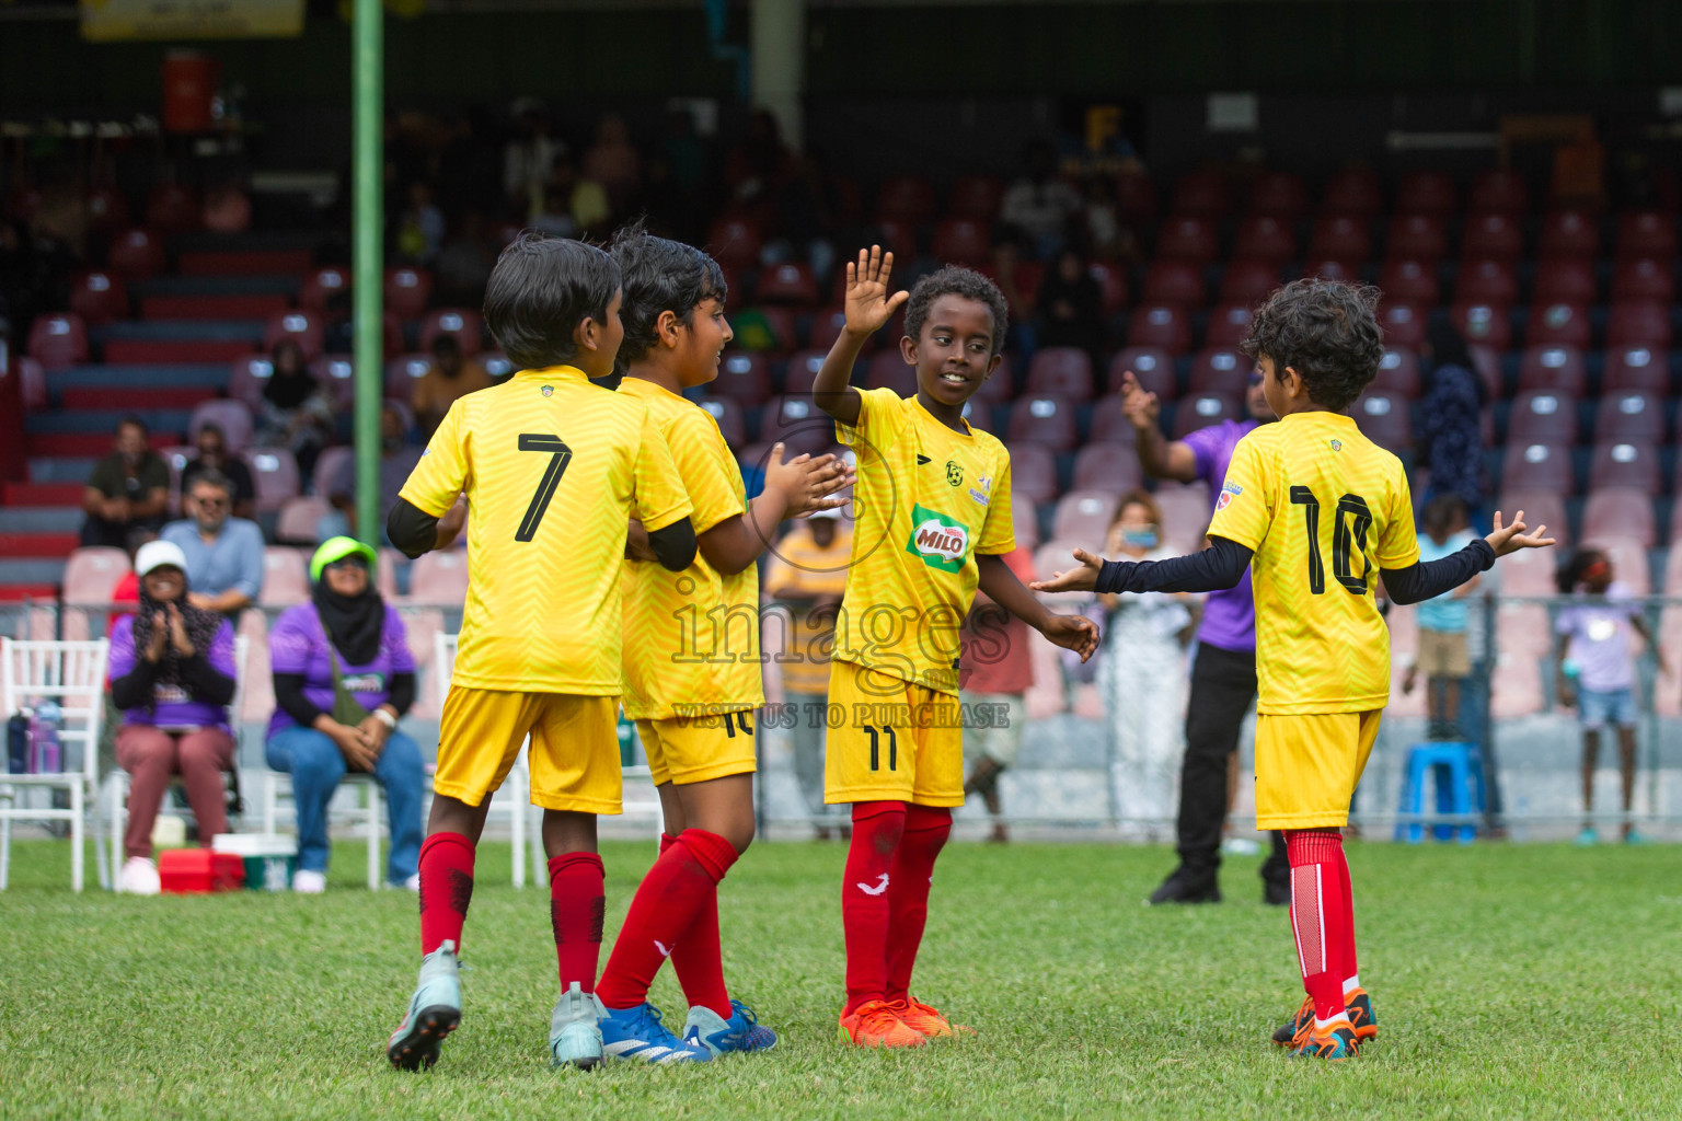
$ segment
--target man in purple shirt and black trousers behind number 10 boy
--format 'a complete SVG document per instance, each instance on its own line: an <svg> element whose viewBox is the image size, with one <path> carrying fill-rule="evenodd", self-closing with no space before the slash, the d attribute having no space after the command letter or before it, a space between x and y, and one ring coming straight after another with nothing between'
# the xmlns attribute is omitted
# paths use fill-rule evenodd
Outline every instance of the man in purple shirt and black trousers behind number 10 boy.
<svg viewBox="0 0 1682 1121"><path fill-rule="evenodd" d="M1167 440L1157 424L1161 405L1132 371L1122 378L1122 413L1134 425L1139 464L1147 476L1209 484L1209 501L1221 501L1226 464L1238 440L1270 424L1262 375L1250 375L1246 420L1223 420L1198 429L1184 440ZM1219 903L1221 825L1226 822L1231 763L1245 713L1256 699L1256 617L1250 573L1238 587L1211 592L1198 629L1198 655L1191 664L1191 697L1186 706L1186 761L1179 775L1179 867L1150 896L1150 903ZM1262 899L1290 903L1290 866L1285 839L1273 834L1273 852L1262 866Z"/></svg>

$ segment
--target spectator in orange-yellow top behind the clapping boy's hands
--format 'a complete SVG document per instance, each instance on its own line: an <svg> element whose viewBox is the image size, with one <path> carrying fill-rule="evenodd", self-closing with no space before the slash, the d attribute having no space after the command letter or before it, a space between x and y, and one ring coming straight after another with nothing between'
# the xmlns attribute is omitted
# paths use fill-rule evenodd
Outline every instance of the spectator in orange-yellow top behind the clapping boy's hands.
<svg viewBox="0 0 1682 1121"><path fill-rule="evenodd" d="M765 597L782 605L789 618L782 669L784 704L794 711L794 776L806 810L819 822L833 817L824 805L824 729L829 704L829 647L834 642L836 610L846 590L848 558L853 555L853 523L839 509L819 509L794 528L772 550L765 568ZM817 839L829 840L831 829L817 825Z"/></svg>

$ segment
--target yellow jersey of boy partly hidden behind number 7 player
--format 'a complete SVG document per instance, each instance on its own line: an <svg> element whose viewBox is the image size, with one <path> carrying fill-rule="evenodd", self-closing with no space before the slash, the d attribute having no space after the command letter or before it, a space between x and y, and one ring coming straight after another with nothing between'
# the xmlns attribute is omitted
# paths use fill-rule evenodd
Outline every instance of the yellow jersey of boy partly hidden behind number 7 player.
<svg viewBox="0 0 1682 1121"><path fill-rule="evenodd" d="M696 534L747 511L742 469L710 412L644 378L626 378L619 392L648 405L690 494ZM725 576L700 553L680 573L629 561L621 588L626 716L711 716L765 703L755 565Z"/></svg>

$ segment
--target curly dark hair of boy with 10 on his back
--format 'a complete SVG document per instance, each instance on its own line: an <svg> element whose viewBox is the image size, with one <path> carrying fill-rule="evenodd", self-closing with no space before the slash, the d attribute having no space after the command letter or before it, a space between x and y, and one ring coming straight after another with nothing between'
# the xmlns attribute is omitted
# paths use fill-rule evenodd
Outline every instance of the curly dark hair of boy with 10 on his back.
<svg viewBox="0 0 1682 1121"><path fill-rule="evenodd" d="M1272 358L1277 371L1290 366L1315 405L1342 412L1378 376L1384 358L1378 296L1364 284L1292 281L1256 308L1243 351Z"/></svg>

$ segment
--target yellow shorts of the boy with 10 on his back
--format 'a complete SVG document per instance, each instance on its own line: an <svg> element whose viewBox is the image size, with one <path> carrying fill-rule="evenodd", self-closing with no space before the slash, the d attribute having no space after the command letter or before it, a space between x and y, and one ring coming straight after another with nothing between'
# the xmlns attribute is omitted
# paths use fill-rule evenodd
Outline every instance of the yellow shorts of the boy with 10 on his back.
<svg viewBox="0 0 1682 1121"><path fill-rule="evenodd" d="M1256 829L1347 825L1379 714L1256 716Z"/></svg>

